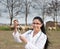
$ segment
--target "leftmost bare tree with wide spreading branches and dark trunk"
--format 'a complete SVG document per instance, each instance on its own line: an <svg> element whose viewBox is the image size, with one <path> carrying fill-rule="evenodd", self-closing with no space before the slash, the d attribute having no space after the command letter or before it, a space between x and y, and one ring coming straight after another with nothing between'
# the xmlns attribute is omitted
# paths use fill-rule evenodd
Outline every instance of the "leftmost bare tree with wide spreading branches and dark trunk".
<svg viewBox="0 0 60 49"><path fill-rule="evenodd" d="M1 0L0 3L7 7L10 16L10 25L12 25L13 17L17 16L20 12L22 2L20 0Z"/></svg>

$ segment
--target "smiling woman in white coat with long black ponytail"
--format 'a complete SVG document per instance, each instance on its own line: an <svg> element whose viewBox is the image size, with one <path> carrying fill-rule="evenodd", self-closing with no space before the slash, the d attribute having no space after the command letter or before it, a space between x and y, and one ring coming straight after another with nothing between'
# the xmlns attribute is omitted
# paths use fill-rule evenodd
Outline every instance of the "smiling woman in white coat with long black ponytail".
<svg viewBox="0 0 60 49"><path fill-rule="evenodd" d="M24 42L25 49L46 49L47 36L43 21L40 17L35 17L32 22L33 30L29 30L24 34L17 31L17 26L13 32L13 37L17 42ZM45 47L46 46L46 47Z"/></svg>

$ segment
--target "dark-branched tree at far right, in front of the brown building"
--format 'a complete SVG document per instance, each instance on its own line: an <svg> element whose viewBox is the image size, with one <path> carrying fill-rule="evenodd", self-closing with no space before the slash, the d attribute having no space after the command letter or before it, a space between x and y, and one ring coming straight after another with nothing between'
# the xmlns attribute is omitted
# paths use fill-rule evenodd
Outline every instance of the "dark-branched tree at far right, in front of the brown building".
<svg viewBox="0 0 60 49"><path fill-rule="evenodd" d="M58 0L52 0L52 2L51 3L49 3L49 7L47 8L47 13L48 14L54 14L54 17L53 17L53 19L54 19L54 22L55 22L55 27L57 27L57 16L58 16L58 11L60 11L59 10L59 8L60 8L60 1L58 1Z"/></svg>

